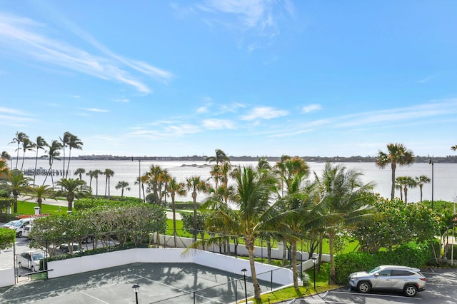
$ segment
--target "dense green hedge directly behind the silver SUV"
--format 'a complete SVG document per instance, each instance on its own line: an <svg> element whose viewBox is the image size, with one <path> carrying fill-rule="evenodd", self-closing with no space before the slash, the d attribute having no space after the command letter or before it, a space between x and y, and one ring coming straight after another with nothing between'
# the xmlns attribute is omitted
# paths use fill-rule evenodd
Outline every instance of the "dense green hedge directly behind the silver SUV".
<svg viewBox="0 0 457 304"><path fill-rule="evenodd" d="M435 246L439 248L436 243ZM408 243L396 250L376 253L354 252L335 257L336 283L346 285L348 275L356 271L368 271L378 265L404 265L422 268L433 260L433 250L429 243Z"/></svg>

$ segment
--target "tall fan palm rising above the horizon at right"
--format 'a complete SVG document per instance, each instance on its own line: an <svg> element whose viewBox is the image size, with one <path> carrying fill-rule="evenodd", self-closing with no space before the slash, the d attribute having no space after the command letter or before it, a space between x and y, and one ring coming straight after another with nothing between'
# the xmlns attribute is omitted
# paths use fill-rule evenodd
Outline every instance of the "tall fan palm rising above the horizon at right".
<svg viewBox="0 0 457 304"><path fill-rule="evenodd" d="M402 143L388 143L387 153L378 151L378 158L376 158L376 166L386 168L388 163L391 164L392 169L392 188L391 200L395 197L395 170L398 166L409 166L414 162L414 153L408 150Z"/></svg>

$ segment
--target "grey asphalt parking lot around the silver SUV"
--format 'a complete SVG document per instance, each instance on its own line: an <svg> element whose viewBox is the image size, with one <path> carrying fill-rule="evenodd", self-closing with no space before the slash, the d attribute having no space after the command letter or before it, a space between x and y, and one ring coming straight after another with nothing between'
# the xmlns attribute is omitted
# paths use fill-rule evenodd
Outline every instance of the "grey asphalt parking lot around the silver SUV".
<svg viewBox="0 0 457 304"><path fill-rule="evenodd" d="M296 300L296 304L400 304L400 303L427 303L443 304L456 303L457 299L457 270L456 269L430 269L422 271L426 276L426 290L418 293L415 297L408 298L402 293L368 293L361 294L351 291L348 286L332 290L328 293L319 293L307 298ZM290 303L284 302L284 303Z"/></svg>

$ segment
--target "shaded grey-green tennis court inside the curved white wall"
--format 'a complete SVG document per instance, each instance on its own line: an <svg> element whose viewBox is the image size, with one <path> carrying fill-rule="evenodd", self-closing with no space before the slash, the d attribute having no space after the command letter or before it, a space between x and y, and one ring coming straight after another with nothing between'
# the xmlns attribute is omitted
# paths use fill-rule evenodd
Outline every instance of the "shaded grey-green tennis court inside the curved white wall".
<svg viewBox="0 0 457 304"><path fill-rule="evenodd" d="M262 292L278 288L259 282ZM0 303L234 303L245 298L243 275L194 263L134 263L0 290ZM253 285L247 278L248 297Z"/></svg>

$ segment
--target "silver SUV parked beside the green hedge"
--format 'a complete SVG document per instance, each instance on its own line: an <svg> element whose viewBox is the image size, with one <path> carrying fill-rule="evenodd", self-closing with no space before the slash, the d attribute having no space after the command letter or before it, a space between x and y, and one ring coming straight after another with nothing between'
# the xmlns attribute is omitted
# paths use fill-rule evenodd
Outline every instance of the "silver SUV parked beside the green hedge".
<svg viewBox="0 0 457 304"><path fill-rule="evenodd" d="M417 268L382 265L368 272L351 273L349 285L359 293L370 290L396 290L408 297L426 289L426 277Z"/></svg>

